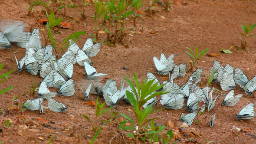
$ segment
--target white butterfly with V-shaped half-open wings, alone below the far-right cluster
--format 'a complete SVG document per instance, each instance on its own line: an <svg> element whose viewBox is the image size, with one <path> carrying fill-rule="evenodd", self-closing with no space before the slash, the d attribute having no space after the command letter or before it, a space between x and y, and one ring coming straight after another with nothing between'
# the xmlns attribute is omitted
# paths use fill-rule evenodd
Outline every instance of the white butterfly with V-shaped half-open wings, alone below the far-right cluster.
<svg viewBox="0 0 256 144"><path fill-rule="evenodd" d="M234 96L234 90L231 90L224 98L222 104L226 106L234 106L242 98L243 94Z"/></svg>

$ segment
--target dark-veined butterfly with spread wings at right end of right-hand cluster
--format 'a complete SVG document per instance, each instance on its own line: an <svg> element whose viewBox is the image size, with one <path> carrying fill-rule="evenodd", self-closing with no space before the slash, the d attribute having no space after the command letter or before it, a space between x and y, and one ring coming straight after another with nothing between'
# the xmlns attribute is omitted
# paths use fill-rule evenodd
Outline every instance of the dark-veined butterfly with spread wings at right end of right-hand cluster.
<svg viewBox="0 0 256 144"><path fill-rule="evenodd" d="M243 73L243 71L239 68L236 68L234 79L236 81L236 84L240 85L240 87L243 88L246 95L253 94L253 91L256 88L256 76L249 81L247 76Z"/></svg>

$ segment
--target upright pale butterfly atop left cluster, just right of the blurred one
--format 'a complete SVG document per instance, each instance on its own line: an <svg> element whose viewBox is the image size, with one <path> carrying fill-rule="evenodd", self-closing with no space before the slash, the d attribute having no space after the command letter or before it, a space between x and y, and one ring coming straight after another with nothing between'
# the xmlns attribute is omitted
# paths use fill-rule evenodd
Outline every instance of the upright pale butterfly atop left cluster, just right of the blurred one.
<svg viewBox="0 0 256 144"><path fill-rule="evenodd" d="M42 48L41 37L39 36L39 29L34 29L30 38L26 41L26 49L33 48L36 51Z"/></svg>

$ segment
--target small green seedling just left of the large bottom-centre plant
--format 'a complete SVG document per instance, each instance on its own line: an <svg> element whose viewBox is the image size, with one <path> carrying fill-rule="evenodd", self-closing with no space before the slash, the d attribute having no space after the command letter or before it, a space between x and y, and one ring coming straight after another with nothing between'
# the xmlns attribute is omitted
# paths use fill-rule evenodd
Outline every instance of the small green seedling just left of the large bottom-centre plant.
<svg viewBox="0 0 256 144"><path fill-rule="evenodd" d="M90 119L87 115L82 114L83 117L84 117L86 120L88 120L88 121L92 124L92 130L93 130L93 131L98 131L98 128L99 128L99 127L98 127L97 121L98 121L99 116L102 115L102 114L104 114L104 113L107 112L108 110L114 108L114 107L110 107L110 108L106 108L105 110L103 110L104 105L105 105L105 102L104 102L102 105L100 105L100 104L98 103L98 98L97 98L96 105L95 105L96 110L95 110L95 119L94 119L94 121L91 121L91 119ZM101 121L102 121L102 120L101 120Z"/></svg>

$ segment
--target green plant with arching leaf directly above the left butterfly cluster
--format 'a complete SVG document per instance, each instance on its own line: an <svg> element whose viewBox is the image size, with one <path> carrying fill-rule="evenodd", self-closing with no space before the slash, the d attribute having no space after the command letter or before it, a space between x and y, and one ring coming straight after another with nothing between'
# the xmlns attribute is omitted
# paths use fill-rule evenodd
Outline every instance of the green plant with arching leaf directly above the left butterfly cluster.
<svg viewBox="0 0 256 144"><path fill-rule="evenodd" d="M51 43L53 44L54 46L54 49L56 51L56 53L61 53L64 49L66 49L68 46L70 46L72 43L68 43L69 42L69 39L73 39L74 43L77 41L77 39L79 39L79 36L85 34L86 32L82 32L82 31L79 31L79 32L75 32L75 33L72 33L71 35L69 35L64 41L63 43L61 43L61 46L60 46L60 52L57 52L57 45L56 45L56 42L55 42L55 38L53 37L53 34L56 34L56 33L60 33L59 31L55 32L55 33L52 33L52 30L55 26L59 25L59 23L62 22L62 19L57 17L56 19L54 19L54 12L52 11L52 13L50 15L48 15L47 11L46 11L46 15L47 15L47 19L48 19L48 22L46 24L46 28L47 28L47 33L48 33L48 37L46 39L51 41ZM47 45L47 44L46 44Z"/></svg>

